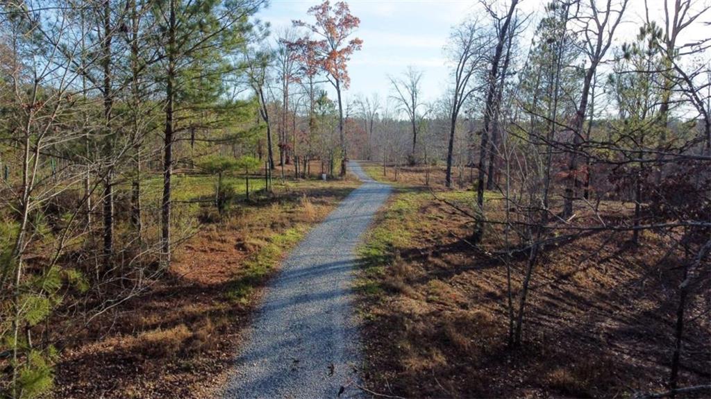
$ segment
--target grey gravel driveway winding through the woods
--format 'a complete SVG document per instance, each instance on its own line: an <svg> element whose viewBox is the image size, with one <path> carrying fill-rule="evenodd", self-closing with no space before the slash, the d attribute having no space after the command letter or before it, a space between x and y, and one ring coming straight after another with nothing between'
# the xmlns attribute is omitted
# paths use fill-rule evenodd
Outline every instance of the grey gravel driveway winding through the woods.
<svg viewBox="0 0 711 399"><path fill-rule="evenodd" d="M225 398L356 398L355 248L390 186L348 164L363 185L296 246L264 293ZM339 395L341 387L346 387Z"/></svg>

